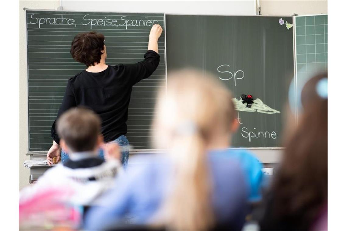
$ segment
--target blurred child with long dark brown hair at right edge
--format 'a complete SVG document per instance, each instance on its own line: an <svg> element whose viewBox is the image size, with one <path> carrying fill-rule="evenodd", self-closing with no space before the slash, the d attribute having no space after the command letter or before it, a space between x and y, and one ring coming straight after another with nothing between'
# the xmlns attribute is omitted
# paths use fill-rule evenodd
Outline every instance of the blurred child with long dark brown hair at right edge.
<svg viewBox="0 0 347 231"><path fill-rule="evenodd" d="M328 74L299 89L298 125L266 197L261 230L328 229Z"/></svg>

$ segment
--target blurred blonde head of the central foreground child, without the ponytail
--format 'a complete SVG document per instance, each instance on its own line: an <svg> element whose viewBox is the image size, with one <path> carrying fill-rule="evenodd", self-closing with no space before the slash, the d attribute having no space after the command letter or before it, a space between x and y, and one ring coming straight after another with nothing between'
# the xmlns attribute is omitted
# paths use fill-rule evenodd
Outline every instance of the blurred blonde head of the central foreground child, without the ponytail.
<svg viewBox="0 0 347 231"><path fill-rule="evenodd" d="M228 148L237 130L230 90L213 75L192 69L172 73L168 82L158 96L154 145L176 147L190 137L207 148Z"/></svg>

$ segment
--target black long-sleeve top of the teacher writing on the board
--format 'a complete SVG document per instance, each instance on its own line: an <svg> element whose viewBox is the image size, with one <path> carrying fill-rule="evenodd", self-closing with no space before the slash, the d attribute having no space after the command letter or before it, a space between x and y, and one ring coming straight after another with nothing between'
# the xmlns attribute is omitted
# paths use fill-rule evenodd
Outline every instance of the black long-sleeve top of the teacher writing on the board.
<svg viewBox="0 0 347 231"><path fill-rule="evenodd" d="M83 70L70 78L57 118L51 128L53 140L58 144L60 142L56 130L59 116L76 106L88 107L101 117L101 132L105 142L125 135L132 87L140 80L150 77L159 61L159 54L149 50L141 62L108 66L104 71L97 73Z"/></svg>

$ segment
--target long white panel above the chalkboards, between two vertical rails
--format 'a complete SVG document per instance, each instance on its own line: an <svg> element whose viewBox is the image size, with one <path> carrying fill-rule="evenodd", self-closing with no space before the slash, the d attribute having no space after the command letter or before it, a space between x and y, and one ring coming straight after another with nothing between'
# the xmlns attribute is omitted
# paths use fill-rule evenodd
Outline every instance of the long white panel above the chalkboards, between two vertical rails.
<svg viewBox="0 0 347 231"><path fill-rule="evenodd" d="M82 3L83 2L83 3ZM255 0L233 1L105 1L63 0L64 10L158 12L167 14L255 15Z"/></svg>

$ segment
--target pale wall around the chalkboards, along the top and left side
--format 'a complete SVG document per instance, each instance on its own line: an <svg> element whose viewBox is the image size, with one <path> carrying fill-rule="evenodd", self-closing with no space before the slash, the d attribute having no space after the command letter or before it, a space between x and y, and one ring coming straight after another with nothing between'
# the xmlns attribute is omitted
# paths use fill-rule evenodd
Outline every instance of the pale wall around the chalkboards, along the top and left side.
<svg viewBox="0 0 347 231"><path fill-rule="evenodd" d="M104 1L63 0L64 10L165 12L168 14L255 15L255 0L244 1ZM262 15L326 14L327 0L260 0ZM54 10L60 0L19 1L19 188L28 185L29 170L23 167L28 159L28 102L26 25L24 7Z"/></svg>

